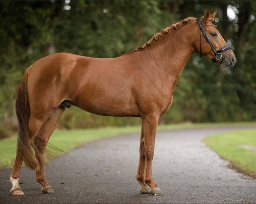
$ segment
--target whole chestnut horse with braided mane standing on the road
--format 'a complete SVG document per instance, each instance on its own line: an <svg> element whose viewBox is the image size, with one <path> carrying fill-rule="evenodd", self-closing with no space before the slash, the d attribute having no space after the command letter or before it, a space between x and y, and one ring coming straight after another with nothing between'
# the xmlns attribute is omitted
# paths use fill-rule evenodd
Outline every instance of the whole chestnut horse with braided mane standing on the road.
<svg viewBox="0 0 256 204"><path fill-rule="evenodd" d="M17 91L19 130L10 178L12 195L23 195L18 182L23 161L36 170L41 191L54 193L44 178L44 152L61 114L70 105L102 116L140 117L136 175L140 192L163 195L151 175L155 135L160 116L172 105L173 91L184 66L195 52L217 59L222 67L235 63L230 45L212 24L216 12L210 14L208 9L199 20L189 17L175 23L120 57L97 59L56 53L31 65Z"/></svg>

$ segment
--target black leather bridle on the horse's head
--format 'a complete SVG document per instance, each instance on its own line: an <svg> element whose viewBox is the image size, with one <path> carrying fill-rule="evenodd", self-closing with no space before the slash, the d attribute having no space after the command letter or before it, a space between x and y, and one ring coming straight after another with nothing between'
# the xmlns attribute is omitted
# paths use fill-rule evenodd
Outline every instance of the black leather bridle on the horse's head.
<svg viewBox="0 0 256 204"><path fill-rule="evenodd" d="M219 61L220 63L222 63L224 60L225 60L225 58L227 57L227 55L230 53L230 51L232 50L232 48L231 48L231 45L225 45L224 47L222 47L222 48L220 48L219 50L215 50L215 48L213 47L213 45L212 45L212 42L211 42L211 40L209 39L209 37L208 37L208 35L207 35L207 33L206 33L206 31L204 31L204 27L205 26L214 26L214 27L217 27L217 26L215 26L215 25L213 25L213 24L207 24L207 25L202 25L202 23L201 23L201 18L197 18L196 19L196 22L198 23L198 26L199 26L199 28L200 28L200 30L201 30L201 36L200 36L200 57L202 57L203 56L203 54L201 53L201 50L202 50L202 34L203 34L203 36L204 36L204 38L205 38L205 40L208 42L208 44L211 46L211 48L212 48L212 51L214 52L214 56L213 56L213 58L212 58L212 62L213 63L216 63L217 61ZM221 54L221 52L224 52L224 51L226 51L226 50L229 50L228 52L227 52L227 54L225 54L225 56L223 57L222 56L222 54ZM226 60L225 60L226 61ZM227 61L226 61L227 62Z"/></svg>

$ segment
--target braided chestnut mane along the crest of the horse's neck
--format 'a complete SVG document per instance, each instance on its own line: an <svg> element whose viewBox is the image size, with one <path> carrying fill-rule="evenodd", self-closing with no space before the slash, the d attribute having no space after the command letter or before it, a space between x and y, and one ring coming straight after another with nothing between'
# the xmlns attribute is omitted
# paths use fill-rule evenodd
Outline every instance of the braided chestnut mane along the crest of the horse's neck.
<svg viewBox="0 0 256 204"><path fill-rule="evenodd" d="M155 34L153 37L151 37L151 39L150 39L148 42L146 42L146 43L145 43L144 45L142 45L141 47L135 49L134 51L136 51L136 50L142 50L142 49L144 49L144 48L146 48L146 47L152 45L152 44L153 44L154 42L156 42L157 40L160 40L163 35L170 33L172 30L176 30L176 29L177 29L180 25L182 25L182 24L189 23L189 21L191 21L192 19L195 19L195 18L193 18L193 17L188 17L188 18L183 19L180 23L174 23L174 24L172 24L172 26L169 26L169 27L163 29L162 32Z"/></svg>

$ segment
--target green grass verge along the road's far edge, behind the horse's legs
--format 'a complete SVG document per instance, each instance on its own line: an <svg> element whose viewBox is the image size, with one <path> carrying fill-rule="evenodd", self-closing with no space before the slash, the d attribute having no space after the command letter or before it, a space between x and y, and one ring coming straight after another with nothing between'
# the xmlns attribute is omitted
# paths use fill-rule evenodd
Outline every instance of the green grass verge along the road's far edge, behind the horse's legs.
<svg viewBox="0 0 256 204"><path fill-rule="evenodd" d="M172 130L179 128L195 127L221 127L236 125L256 125L256 122L246 123L183 123L174 125L158 125L157 130ZM127 133L140 132L140 126L132 127L104 127L79 130L55 130L49 139L49 143L65 152L72 150L82 144L105 137L116 136ZM139 139L139 138L138 138ZM17 136L0 140L0 168L12 167L16 156ZM139 140L138 140L139 141Z"/></svg>

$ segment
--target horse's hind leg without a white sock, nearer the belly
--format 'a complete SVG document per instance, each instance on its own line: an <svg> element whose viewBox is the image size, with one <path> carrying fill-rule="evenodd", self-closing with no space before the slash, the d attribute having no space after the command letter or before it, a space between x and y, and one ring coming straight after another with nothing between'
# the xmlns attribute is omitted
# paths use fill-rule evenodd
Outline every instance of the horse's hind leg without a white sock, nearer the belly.
<svg viewBox="0 0 256 204"><path fill-rule="evenodd" d="M36 171L36 181L42 185L41 191L44 193L54 193L53 188L48 184L44 177L44 151L46 149L47 142L64 110L65 108L55 109L34 139L35 147L38 149L38 151L36 151L36 158L38 159L39 163L39 170Z"/></svg>

